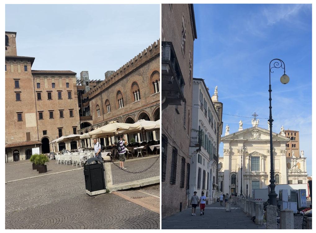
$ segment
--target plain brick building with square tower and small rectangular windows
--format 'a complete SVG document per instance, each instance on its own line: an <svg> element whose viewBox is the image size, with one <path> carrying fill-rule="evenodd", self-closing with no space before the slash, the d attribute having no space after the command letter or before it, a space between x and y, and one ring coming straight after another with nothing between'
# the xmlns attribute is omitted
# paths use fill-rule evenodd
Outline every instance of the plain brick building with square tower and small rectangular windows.
<svg viewBox="0 0 316 233"><path fill-rule="evenodd" d="M34 147L48 153L49 141L80 127L76 73L32 70L35 58L17 56L15 37L5 32L6 162L28 159Z"/></svg>

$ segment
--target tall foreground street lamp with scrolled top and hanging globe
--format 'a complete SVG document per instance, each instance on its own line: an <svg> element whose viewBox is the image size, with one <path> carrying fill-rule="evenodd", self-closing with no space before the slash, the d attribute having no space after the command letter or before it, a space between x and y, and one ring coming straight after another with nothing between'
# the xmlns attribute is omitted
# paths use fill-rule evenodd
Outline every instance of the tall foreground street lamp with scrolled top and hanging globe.
<svg viewBox="0 0 316 233"><path fill-rule="evenodd" d="M271 63L275 61L273 63L273 67L271 67ZM280 62L280 63L279 63ZM270 205L272 206L276 206L276 197L277 197L277 194L275 192L275 180L274 180L274 169L273 169L273 145L272 145L272 122L273 122L273 119L272 119L272 107L271 107L271 73L273 73L273 71L271 71L272 68L282 68L284 69L284 75L281 76L280 78L280 81L281 83L283 84L287 84L289 81L290 81L290 78L288 75L285 74L285 64L282 60L280 59L273 59L271 62L270 62L270 65L269 65L269 94L270 94L270 98L269 98L269 101L270 101L270 117L269 117L269 120L268 122L270 123L270 194L268 195L269 196L269 199L270 199Z"/></svg>

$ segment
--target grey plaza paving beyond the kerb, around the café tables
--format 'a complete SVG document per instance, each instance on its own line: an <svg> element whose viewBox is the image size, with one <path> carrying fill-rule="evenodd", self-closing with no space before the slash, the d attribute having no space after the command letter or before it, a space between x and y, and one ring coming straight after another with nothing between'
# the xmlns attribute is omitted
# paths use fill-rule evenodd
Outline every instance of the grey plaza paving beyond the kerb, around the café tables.
<svg viewBox="0 0 316 233"><path fill-rule="evenodd" d="M155 158L157 158L156 155L150 156L150 157L129 159L129 160L126 160L124 162L124 166L127 168L127 170L131 170L131 171L144 170L144 169L148 168L155 161ZM52 173L56 173L56 172L76 169L76 165L72 166L72 164L70 164L70 165L69 164L68 165L56 164L56 160L50 160L50 162L47 164L47 172L43 173L43 174L39 174L38 171L32 170L32 163L28 163L29 161L30 160L28 159L28 160L8 163L8 165L6 164L6 166L5 166L5 181L18 180L18 179L28 178L28 177L32 177L32 176L47 175L47 174L52 174ZM149 163L149 161L152 161L151 164ZM159 174L160 174L159 162L160 162L160 159L158 159L158 161L156 163L156 164L158 164L158 166L155 164L150 169L151 172L153 172L153 171L157 172L157 169L158 169L157 176L159 176ZM118 164L118 162L116 164ZM78 168L80 168L80 166L78 166ZM83 165L82 165L82 168L83 168ZM112 173L113 173L113 171L120 172L120 170L117 167L115 167L114 164L112 164ZM127 172L124 172L124 173L128 174ZM119 173L119 174L121 175L121 173ZM142 173L139 173L139 174L142 174ZM134 174L134 176L133 176L133 177L135 177L134 180L140 180L140 179L152 177L150 175L148 177L143 176L143 175L144 174L142 174L141 176L137 176L137 174ZM144 177L144 178L139 179L139 177ZM115 183L115 182L123 183L121 181L116 181L115 177L113 175L113 183Z"/></svg>

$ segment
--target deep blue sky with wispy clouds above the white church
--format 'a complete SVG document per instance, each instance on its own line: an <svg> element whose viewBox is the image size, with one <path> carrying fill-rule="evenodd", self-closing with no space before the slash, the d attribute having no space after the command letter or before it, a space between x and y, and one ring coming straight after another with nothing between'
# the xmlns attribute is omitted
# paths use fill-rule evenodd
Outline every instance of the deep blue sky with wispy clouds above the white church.
<svg viewBox="0 0 316 233"><path fill-rule="evenodd" d="M218 86L223 103L223 135L252 127L268 128L269 63L285 63L290 81L280 82L283 69L271 74L273 132L300 132L300 151L312 175L312 4L194 4L197 40L193 77L205 79L212 95ZM237 116L229 116L237 115ZM239 117L245 116L245 117ZM223 144L219 148L223 156Z"/></svg>

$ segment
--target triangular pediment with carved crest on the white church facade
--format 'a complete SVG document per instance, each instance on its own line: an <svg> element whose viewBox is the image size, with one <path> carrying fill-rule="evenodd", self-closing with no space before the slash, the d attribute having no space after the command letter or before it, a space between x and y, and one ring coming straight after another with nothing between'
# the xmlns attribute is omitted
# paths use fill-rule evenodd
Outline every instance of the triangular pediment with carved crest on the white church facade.
<svg viewBox="0 0 316 233"><path fill-rule="evenodd" d="M223 140L270 140L270 130L254 126L226 135L221 138ZM289 138L272 132L272 140L288 142Z"/></svg>

